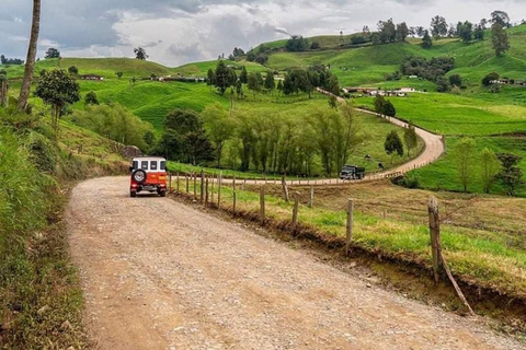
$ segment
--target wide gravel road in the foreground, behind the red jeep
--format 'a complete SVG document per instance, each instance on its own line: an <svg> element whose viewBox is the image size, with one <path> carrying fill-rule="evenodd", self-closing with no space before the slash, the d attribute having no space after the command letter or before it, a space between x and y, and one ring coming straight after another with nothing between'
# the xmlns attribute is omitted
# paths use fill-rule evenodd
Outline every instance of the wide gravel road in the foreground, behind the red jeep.
<svg viewBox="0 0 526 350"><path fill-rule="evenodd" d="M70 247L100 349L524 349L128 179L78 185Z"/></svg>

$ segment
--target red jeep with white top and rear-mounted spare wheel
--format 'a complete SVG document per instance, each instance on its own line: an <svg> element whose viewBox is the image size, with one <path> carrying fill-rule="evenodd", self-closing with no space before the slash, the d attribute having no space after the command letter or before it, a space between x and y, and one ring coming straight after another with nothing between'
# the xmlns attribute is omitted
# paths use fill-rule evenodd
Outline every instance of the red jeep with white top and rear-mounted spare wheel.
<svg viewBox="0 0 526 350"><path fill-rule="evenodd" d="M129 196L137 197L140 191L158 192L167 197L167 160L159 156L134 158L129 167L132 182Z"/></svg>

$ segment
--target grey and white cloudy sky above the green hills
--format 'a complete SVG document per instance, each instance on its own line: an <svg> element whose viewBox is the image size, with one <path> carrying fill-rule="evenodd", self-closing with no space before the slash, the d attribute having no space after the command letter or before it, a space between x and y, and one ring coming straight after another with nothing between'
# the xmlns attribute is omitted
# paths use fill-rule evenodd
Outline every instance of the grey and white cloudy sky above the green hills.
<svg viewBox="0 0 526 350"><path fill-rule="evenodd" d="M31 0L1 0L0 54L25 57ZM526 0L43 0L39 56L58 47L62 56L129 57L146 48L168 66L250 49L284 33L346 34L379 20L428 26L441 14L449 23L478 22L493 10L526 18Z"/></svg>

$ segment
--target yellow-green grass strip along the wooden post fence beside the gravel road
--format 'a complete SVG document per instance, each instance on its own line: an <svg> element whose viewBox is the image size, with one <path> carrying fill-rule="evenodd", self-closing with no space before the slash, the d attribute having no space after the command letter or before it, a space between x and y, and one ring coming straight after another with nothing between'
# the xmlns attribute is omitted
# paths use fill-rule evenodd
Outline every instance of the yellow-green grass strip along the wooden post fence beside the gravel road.
<svg viewBox="0 0 526 350"><path fill-rule="evenodd" d="M172 188L176 185L173 184ZM199 184L196 192L199 196ZM180 188L185 191L184 180ZM255 189L255 188L254 188ZM190 194L194 191L190 184ZM217 201L217 186L214 197ZM211 192L211 188L210 188ZM210 195L211 196L211 195ZM230 186L222 188L221 208L231 209L233 192ZM345 210L327 209L319 206L308 208L307 198L301 198L299 222L313 226L321 232L345 237ZM237 189L237 209L256 215L260 196L255 191ZM293 203L267 195L265 213L274 220L290 220ZM442 226L443 253L451 271L464 281L491 288L512 296L526 296L526 252L511 247L508 236L493 231L458 228L448 224ZM415 224L400 220L382 219L379 215L355 211L353 242L355 245L384 255L412 260L430 267L432 257L430 233L426 224Z"/></svg>

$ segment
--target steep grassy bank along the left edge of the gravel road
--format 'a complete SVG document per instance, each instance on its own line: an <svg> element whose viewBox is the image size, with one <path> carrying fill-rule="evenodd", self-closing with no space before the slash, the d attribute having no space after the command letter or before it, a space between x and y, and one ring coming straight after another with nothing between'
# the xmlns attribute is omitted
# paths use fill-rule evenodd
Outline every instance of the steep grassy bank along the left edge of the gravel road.
<svg viewBox="0 0 526 350"><path fill-rule="evenodd" d="M124 173L125 163L114 142L73 125L61 122L57 142L47 116L0 108L0 120L1 347L83 349L83 296L61 221L66 194L76 180Z"/></svg>

